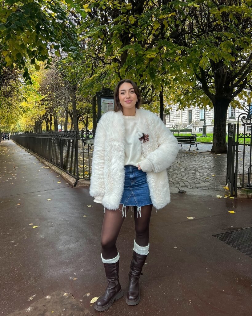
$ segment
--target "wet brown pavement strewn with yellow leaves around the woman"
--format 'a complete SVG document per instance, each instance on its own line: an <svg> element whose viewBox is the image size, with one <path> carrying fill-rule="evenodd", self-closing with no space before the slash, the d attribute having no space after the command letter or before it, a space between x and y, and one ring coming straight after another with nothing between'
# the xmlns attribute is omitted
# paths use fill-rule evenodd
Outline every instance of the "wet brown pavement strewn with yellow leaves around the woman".
<svg viewBox="0 0 252 316"><path fill-rule="evenodd" d="M204 161L201 171L210 175L212 162ZM103 207L89 189L70 187L12 141L0 143L0 188L0 316L100 315L90 300L106 286ZM251 227L251 200L189 191L153 209L141 301L133 307L125 302L134 241L128 213L117 242L124 296L103 315L252 314L252 258L213 236Z"/></svg>

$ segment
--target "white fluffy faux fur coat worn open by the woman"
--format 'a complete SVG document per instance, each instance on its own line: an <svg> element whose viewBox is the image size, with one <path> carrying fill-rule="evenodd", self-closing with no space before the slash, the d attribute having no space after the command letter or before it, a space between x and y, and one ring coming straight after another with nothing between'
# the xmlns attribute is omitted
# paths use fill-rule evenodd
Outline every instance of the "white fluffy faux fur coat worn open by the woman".
<svg viewBox="0 0 252 316"><path fill-rule="evenodd" d="M179 151L176 138L154 113L136 109L138 136L149 135L142 141L142 152L152 165L147 182L153 206L158 210L170 202L169 181L166 169ZM89 193L102 197L109 210L119 207L124 186L125 121L121 111L102 115L95 132L92 175Z"/></svg>

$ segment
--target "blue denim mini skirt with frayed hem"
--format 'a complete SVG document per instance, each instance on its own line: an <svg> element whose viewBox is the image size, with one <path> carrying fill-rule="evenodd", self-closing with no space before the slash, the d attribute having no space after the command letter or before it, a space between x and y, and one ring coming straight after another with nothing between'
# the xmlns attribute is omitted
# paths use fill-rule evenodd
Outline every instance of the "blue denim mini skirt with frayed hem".
<svg viewBox="0 0 252 316"><path fill-rule="evenodd" d="M137 217L138 214L141 217L141 206L152 204L146 172L138 170L138 167L131 165L127 165L124 168L124 189L120 203L123 204L123 216L126 216L126 206L136 206Z"/></svg>

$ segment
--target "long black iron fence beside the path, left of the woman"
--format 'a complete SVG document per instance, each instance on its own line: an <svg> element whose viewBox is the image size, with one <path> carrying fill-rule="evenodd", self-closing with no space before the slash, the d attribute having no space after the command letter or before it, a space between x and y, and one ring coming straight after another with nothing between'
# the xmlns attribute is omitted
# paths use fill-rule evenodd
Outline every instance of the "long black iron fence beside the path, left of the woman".
<svg viewBox="0 0 252 316"><path fill-rule="evenodd" d="M94 130L12 135L16 143L64 170L75 179L90 179Z"/></svg>

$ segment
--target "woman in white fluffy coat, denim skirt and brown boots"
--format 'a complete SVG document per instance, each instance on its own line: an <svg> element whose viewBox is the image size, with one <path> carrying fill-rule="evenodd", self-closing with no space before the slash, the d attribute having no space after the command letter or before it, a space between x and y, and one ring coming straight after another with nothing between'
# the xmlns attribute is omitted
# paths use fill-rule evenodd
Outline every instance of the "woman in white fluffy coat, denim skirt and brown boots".
<svg viewBox="0 0 252 316"><path fill-rule="evenodd" d="M123 296L116 240L129 206L134 207L136 236L126 303L140 302L138 282L149 253L152 205L158 210L170 202L166 169L179 150L176 138L157 115L140 109L135 82L118 82L114 99L114 111L103 114L96 129L90 183L94 202L104 206L101 259L108 286L95 303L100 312Z"/></svg>

